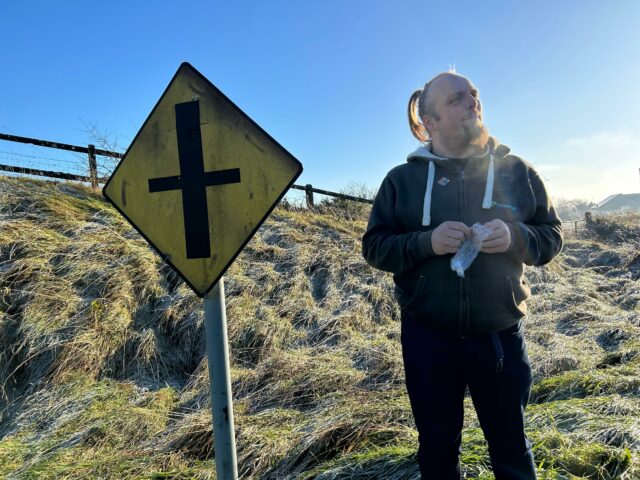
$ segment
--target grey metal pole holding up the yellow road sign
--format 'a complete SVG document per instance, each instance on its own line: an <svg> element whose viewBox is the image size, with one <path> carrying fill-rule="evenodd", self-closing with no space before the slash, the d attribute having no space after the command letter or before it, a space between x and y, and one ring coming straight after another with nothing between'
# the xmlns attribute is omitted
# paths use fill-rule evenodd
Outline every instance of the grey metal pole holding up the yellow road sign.
<svg viewBox="0 0 640 480"><path fill-rule="evenodd" d="M233 428L227 314L224 304L224 279L204 299L204 326L207 336L211 415L218 480L237 480L236 440Z"/></svg>

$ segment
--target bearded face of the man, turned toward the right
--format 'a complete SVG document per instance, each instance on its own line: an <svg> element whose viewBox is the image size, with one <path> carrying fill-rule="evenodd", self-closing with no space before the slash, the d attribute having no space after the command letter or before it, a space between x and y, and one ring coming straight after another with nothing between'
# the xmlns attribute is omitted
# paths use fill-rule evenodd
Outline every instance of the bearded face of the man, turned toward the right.
<svg viewBox="0 0 640 480"><path fill-rule="evenodd" d="M429 101L439 118L425 116L431 137L453 149L484 146L489 137L482 124L478 90L464 77L445 75L429 87Z"/></svg>

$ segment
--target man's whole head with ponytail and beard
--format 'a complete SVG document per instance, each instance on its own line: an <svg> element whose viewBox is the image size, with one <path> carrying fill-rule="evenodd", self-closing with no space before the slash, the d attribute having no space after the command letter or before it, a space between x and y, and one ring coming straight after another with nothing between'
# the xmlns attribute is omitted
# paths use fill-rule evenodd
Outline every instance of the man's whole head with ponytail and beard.
<svg viewBox="0 0 640 480"><path fill-rule="evenodd" d="M433 146L449 152L484 147L489 138L482 124L478 89L467 78L453 72L436 75L412 95L409 123L416 138L421 141L431 138Z"/></svg>

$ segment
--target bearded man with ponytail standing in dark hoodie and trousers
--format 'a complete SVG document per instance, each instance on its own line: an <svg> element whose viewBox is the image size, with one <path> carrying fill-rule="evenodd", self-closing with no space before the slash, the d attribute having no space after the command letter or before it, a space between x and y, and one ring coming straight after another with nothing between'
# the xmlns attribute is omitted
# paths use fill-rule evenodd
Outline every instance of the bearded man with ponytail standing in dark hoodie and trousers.
<svg viewBox="0 0 640 480"><path fill-rule="evenodd" d="M496 479L535 479L524 265L560 252L560 219L533 167L489 135L467 78L427 82L411 96L409 122L423 145L383 180L362 253L393 273L422 477L461 478L468 386ZM490 233L460 277L450 261L475 223Z"/></svg>

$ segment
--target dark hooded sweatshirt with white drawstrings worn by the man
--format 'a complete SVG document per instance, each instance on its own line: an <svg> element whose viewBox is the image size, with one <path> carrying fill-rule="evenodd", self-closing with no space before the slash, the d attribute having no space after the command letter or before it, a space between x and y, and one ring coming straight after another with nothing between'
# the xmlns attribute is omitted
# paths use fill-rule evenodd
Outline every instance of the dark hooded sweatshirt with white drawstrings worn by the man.
<svg viewBox="0 0 640 480"><path fill-rule="evenodd" d="M403 312L431 329L474 336L508 328L526 314L524 265L544 265L562 248L562 228L538 173L495 138L466 159L418 148L392 169L376 195L362 254L393 273ZM447 220L471 226L503 220L504 253L479 253L460 278L452 255L436 255L431 234Z"/></svg>

